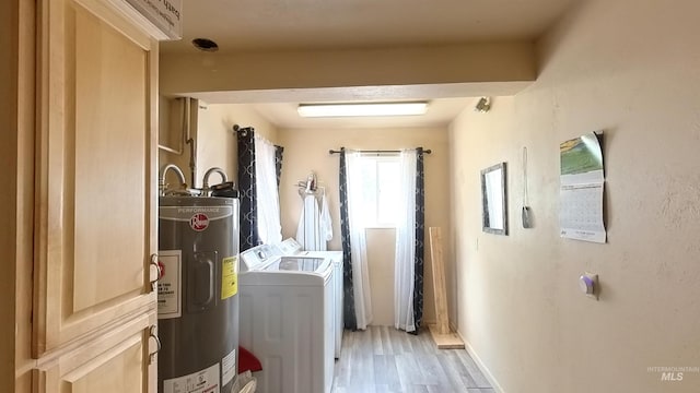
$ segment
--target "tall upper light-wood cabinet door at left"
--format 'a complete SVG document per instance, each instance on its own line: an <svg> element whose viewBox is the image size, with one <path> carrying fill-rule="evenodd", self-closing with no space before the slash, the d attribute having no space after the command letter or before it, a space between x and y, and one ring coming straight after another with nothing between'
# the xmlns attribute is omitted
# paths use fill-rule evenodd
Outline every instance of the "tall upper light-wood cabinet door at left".
<svg viewBox="0 0 700 393"><path fill-rule="evenodd" d="M109 1L38 9L35 357L153 310L158 273L158 43Z"/></svg>

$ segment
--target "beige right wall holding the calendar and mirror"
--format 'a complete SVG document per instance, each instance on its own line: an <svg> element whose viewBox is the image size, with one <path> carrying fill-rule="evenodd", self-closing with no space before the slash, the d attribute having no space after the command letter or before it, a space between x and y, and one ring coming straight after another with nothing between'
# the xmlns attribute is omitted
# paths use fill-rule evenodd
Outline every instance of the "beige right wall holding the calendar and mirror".
<svg viewBox="0 0 700 393"><path fill-rule="evenodd" d="M505 392L698 392L700 3L582 2L537 82L452 124L460 334ZM605 130L608 242L558 236L559 143ZM535 227L523 229L521 150ZM464 152L464 153L459 153ZM480 227L479 170L508 162L510 236ZM598 273L600 300L578 277Z"/></svg>

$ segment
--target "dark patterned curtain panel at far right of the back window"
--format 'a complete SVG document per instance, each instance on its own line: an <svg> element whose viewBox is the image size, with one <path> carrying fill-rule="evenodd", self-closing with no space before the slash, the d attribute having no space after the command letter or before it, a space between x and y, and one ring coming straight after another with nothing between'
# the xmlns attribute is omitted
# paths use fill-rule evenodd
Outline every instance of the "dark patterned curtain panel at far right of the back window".
<svg viewBox="0 0 700 393"><path fill-rule="evenodd" d="M413 279L413 320L418 334L423 320L423 250L425 249L425 182L423 180L423 148L416 150L416 270Z"/></svg>

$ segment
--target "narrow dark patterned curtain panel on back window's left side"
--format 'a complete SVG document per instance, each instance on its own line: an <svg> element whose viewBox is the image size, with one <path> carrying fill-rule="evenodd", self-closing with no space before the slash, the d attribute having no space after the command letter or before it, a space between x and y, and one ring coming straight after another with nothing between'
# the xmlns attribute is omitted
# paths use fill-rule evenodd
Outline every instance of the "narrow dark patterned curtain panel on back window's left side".
<svg viewBox="0 0 700 393"><path fill-rule="evenodd" d="M346 167L346 152L340 150L340 178L338 181L340 194L340 236L342 241L342 281L343 281L343 321L345 327L357 331L358 320L354 314L354 289L352 287L352 258L350 253L350 222L348 221L348 172Z"/></svg>

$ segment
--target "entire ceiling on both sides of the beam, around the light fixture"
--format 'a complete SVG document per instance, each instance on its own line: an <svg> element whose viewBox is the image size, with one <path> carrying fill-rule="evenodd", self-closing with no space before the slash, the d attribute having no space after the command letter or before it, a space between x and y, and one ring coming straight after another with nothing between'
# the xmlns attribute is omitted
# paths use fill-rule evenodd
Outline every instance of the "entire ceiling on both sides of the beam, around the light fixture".
<svg viewBox="0 0 700 393"><path fill-rule="evenodd" d="M575 0L183 0L183 39L163 43L165 53L196 52L194 38L219 44L220 52L383 48L419 45L534 40ZM443 91L444 90L446 91ZM281 128L431 127L444 126L491 86L472 88L470 97L454 97L448 86L423 88L420 96L386 98L431 99L429 115L369 120L301 119L296 105L324 94L299 90L276 95L273 102L250 97L254 108ZM462 90L464 92L464 90ZM425 93L432 94L427 96ZM276 92L279 93L279 92ZM399 88L399 93L400 88ZM415 93L415 92L413 92ZM345 94L345 95L343 95ZM235 93L233 94L235 95ZM210 104L241 103L233 95L199 94ZM381 94L380 94L381 95ZM372 97L376 100L376 97ZM325 100L358 100L353 90L336 91ZM280 100L284 100L281 103ZM318 99L323 100L323 99Z"/></svg>

